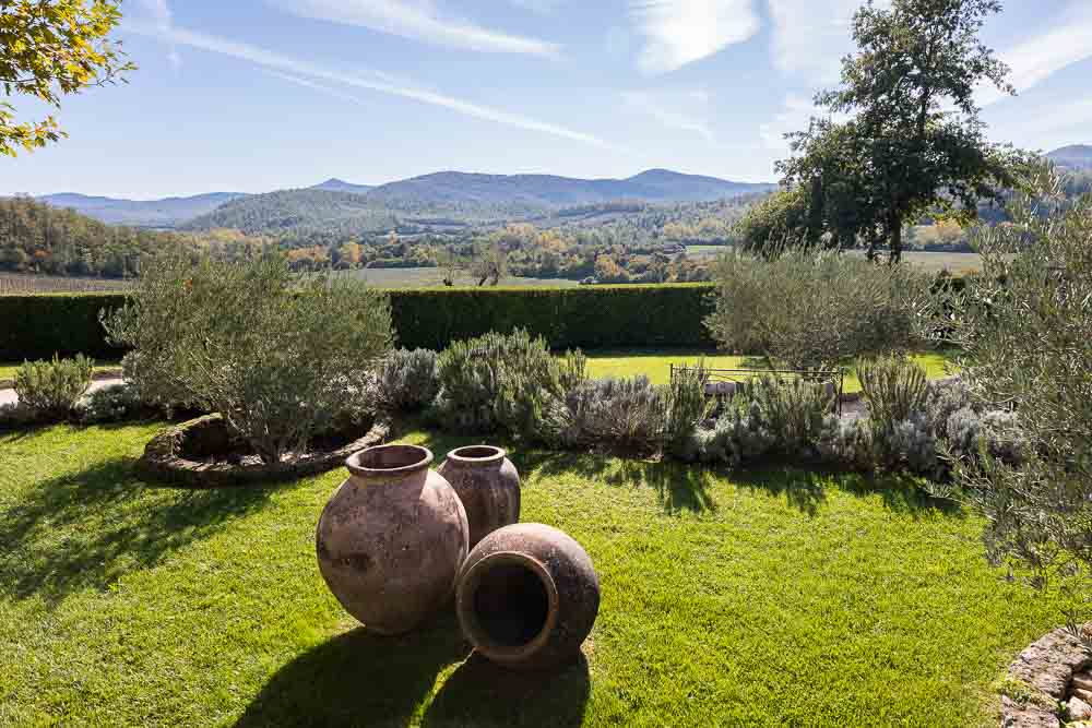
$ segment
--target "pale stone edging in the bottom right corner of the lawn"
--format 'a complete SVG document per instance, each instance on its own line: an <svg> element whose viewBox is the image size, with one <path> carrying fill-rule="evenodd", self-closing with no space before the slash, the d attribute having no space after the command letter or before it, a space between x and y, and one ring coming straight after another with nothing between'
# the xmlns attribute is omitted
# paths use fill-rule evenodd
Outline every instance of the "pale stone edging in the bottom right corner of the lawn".
<svg viewBox="0 0 1092 728"><path fill-rule="evenodd" d="M1006 682L1030 694L1001 694L1002 728L1060 728L1058 708L1073 673L1089 663L1092 654L1064 626L1029 645L1009 665Z"/></svg>

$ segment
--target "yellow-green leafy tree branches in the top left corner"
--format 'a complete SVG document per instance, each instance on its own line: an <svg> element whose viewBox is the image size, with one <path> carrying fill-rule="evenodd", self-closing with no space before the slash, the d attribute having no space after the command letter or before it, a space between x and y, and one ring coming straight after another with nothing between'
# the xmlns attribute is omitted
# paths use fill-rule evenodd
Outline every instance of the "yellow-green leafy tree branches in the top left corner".
<svg viewBox="0 0 1092 728"><path fill-rule="evenodd" d="M60 107L66 94L123 80L135 67L110 33L121 20L119 0L0 1L0 88L3 97L31 96ZM14 156L56 142L64 132L52 116L19 121L0 100L0 154Z"/></svg>

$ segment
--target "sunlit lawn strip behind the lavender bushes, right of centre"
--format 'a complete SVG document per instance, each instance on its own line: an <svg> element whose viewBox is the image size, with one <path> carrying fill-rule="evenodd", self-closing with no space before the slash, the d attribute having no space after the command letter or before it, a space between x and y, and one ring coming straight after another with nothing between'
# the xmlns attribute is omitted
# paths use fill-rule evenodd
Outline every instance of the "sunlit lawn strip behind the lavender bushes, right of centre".
<svg viewBox="0 0 1092 728"><path fill-rule="evenodd" d="M739 369L748 366L759 366L748 357L726 356L715 351L670 351L650 349L645 351L587 351L587 372L593 378L604 377L637 377L644 374L653 384L667 384L670 381L673 363L693 365L704 361L707 367L715 369ZM929 351L914 356L914 360L925 367L929 379L946 375L945 367L950 357L941 351ZM850 372L845 380L846 392L858 392L860 382Z"/></svg>

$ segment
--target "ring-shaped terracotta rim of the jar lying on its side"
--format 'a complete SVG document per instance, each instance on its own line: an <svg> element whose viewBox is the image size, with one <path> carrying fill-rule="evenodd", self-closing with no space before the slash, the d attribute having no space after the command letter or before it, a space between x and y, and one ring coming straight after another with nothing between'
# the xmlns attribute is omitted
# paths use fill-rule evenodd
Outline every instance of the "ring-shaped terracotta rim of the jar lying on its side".
<svg viewBox="0 0 1092 728"><path fill-rule="evenodd" d="M478 622L477 612L474 609L474 596L483 577L496 566L514 564L527 569L546 589L547 611L546 621L542 630L534 639L522 645L503 645L495 641L489 632ZM526 656L534 655L549 642L554 628L557 626L558 609L560 600L557 594L557 584L549 570L546 569L538 559L521 551L495 551L471 566L470 571L460 576L460 588L456 595L455 611L462 623L463 631L474 647L489 659L508 663L519 661Z"/></svg>

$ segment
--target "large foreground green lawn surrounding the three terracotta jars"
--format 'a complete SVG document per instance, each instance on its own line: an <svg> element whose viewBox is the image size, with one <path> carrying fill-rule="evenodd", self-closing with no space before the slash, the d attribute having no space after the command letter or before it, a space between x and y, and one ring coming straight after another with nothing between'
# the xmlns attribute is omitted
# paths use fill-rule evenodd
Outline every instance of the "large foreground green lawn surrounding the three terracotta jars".
<svg viewBox="0 0 1092 728"><path fill-rule="evenodd" d="M0 725L996 725L990 683L1061 621L906 482L517 450L524 521L584 545L603 604L583 660L509 675L450 614L380 639L341 610L313 530L343 473L156 487L158 427L0 435Z"/></svg>

